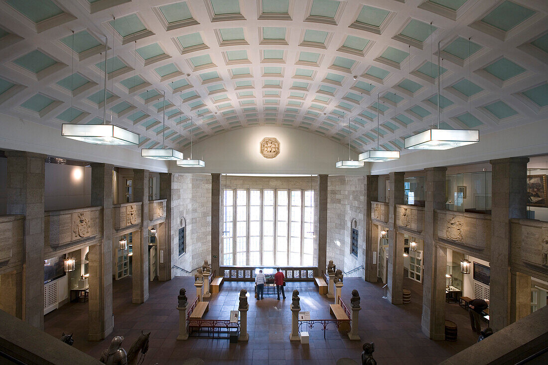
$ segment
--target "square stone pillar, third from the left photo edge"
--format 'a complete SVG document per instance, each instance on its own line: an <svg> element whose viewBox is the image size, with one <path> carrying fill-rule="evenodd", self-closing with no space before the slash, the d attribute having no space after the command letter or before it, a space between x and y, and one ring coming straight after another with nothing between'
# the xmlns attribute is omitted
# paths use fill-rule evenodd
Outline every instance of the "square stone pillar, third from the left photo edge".
<svg viewBox="0 0 548 365"><path fill-rule="evenodd" d="M133 201L142 202L139 239L133 238L132 303L149 299L149 171L133 170ZM165 253L164 253L165 254Z"/></svg>

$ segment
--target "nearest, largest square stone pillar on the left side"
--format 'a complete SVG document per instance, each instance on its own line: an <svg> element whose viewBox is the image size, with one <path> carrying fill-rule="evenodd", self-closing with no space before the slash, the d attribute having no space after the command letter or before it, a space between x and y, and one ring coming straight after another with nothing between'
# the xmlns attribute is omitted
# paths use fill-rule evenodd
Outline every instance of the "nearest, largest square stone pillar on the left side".
<svg viewBox="0 0 548 365"><path fill-rule="evenodd" d="M15 309L31 326L44 328L45 158L38 153L7 151L7 214L25 215L21 300ZM17 281L18 282L18 281Z"/></svg>

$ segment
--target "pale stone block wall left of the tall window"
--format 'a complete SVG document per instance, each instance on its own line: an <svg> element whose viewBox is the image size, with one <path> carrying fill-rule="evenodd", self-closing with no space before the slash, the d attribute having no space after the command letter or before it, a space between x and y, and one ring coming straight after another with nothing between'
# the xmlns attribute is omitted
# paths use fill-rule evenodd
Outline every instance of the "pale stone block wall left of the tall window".
<svg viewBox="0 0 548 365"><path fill-rule="evenodd" d="M185 270L211 262L211 176L172 174L172 265ZM186 248L179 256L179 229L185 224ZM172 276L189 275L172 269Z"/></svg>

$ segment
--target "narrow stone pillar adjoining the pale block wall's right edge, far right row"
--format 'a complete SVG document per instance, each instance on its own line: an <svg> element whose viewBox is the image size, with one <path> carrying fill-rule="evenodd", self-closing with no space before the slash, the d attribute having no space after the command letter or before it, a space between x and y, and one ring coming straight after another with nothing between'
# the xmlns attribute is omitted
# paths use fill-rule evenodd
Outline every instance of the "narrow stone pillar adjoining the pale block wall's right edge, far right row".
<svg viewBox="0 0 548 365"><path fill-rule="evenodd" d="M363 252L365 258L365 280L371 283L377 282L377 264L375 258L375 264L373 264L373 257L377 255L377 249L379 248L379 239L376 235L373 235L373 224L371 223L371 202L376 202L379 199L379 176L367 175L366 178L366 198L364 201L365 214L364 214L364 236L366 244Z"/></svg>

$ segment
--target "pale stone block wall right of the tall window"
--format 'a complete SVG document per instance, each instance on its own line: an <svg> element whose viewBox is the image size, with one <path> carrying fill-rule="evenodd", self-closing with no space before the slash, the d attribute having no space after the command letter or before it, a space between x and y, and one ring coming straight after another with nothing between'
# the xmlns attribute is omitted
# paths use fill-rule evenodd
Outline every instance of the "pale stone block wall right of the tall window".
<svg viewBox="0 0 548 365"><path fill-rule="evenodd" d="M343 271L364 265L365 177L329 176L327 183L327 260ZM351 222L356 219L358 257L350 253ZM356 270L349 276L363 276Z"/></svg>

